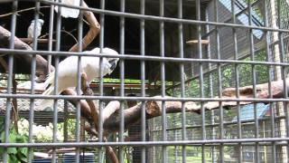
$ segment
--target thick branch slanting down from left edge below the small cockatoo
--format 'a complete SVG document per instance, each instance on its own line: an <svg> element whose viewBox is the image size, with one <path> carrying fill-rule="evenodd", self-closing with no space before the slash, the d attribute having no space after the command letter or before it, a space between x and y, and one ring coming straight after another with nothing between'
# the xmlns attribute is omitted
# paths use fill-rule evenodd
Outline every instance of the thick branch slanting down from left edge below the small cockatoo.
<svg viewBox="0 0 289 163"><path fill-rule="evenodd" d="M6 30L4 27L0 26L0 48L8 48L11 40L11 33ZM17 54L14 57L18 60L25 62L30 65L33 61L33 55L29 54L29 51L33 49L26 43L23 43L16 36L14 37L14 48L18 50L27 51L27 54ZM42 80L45 81L47 76L47 61L41 56L36 54L36 75ZM51 67L51 71L54 70Z"/></svg>

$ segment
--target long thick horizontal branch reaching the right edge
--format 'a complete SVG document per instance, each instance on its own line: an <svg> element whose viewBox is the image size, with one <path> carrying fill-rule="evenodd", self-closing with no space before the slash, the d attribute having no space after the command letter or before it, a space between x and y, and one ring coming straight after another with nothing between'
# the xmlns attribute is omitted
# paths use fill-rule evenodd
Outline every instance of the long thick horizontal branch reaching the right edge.
<svg viewBox="0 0 289 163"><path fill-rule="evenodd" d="M287 87L289 87L289 79L286 79ZM275 99L278 98L284 98L284 81L275 81L271 82L271 92L272 97ZM239 88L239 98L240 100L246 100L246 99L252 99L253 98L253 86L246 86ZM144 102L144 108L146 113L146 120L152 119L154 117L158 117L162 115L162 101L154 101L154 98L160 98L160 96L152 97L152 101L145 101ZM170 97L166 97L170 98ZM269 97L269 90L268 90L268 83L263 84L257 84L256 85L256 98L258 99L267 99ZM225 89L222 92L222 98L219 99L218 97L214 98L216 100L224 100L229 99L232 101L222 101L221 105L222 107L233 107L237 106L238 102L234 101L236 100L236 88L228 88ZM239 101L240 105L252 103L252 101ZM182 101L165 101L164 102L166 113L176 113L176 112L182 112ZM204 104L205 110L212 110L212 109L218 109L219 101L209 101ZM107 115L104 115L104 129L106 132L111 133L114 131L119 130L119 114L117 110L119 109L119 106L117 103L115 103L115 106L109 106L107 105L107 108L109 111L107 111ZM200 113L200 105L197 105L196 103L189 101L184 102L184 108L185 111L192 111L192 112L198 112ZM113 110L115 110L114 113L111 113ZM125 114L125 128L128 129L130 125L134 124L135 122L138 122L141 119L141 112L142 112L142 103L138 103L135 106L128 108L124 110Z"/></svg>

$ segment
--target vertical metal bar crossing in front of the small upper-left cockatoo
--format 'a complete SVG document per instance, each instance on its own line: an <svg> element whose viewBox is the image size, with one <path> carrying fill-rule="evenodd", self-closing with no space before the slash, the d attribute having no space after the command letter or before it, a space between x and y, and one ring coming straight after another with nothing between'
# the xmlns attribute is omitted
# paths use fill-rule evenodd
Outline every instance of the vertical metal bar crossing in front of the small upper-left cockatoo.
<svg viewBox="0 0 289 163"><path fill-rule="evenodd" d="M40 11L40 2L35 2L35 12L34 12L34 27L33 27L33 50L37 51L37 26L39 25L39 11ZM31 67L31 94L34 94L34 80L35 80L35 71L36 71L36 58L33 55L32 67ZM33 121L34 121L34 99L30 101L30 110L29 110L29 142L33 142ZM28 151L28 162L32 162L33 159L33 148L29 148Z"/></svg>

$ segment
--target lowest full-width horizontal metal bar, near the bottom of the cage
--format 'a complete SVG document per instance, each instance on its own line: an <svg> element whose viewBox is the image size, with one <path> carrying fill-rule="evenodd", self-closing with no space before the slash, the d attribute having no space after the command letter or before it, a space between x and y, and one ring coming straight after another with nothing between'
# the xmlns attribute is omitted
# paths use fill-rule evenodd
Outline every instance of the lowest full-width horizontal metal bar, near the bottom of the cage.
<svg viewBox="0 0 289 163"><path fill-rule="evenodd" d="M130 142L61 142L61 143L0 143L0 148L32 147L32 148L61 148L61 147L107 147L107 146L183 146L212 143L244 143L244 142L279 142L289 138L260 138L260 139L206 139L178 141L130 141Z"/></svg>

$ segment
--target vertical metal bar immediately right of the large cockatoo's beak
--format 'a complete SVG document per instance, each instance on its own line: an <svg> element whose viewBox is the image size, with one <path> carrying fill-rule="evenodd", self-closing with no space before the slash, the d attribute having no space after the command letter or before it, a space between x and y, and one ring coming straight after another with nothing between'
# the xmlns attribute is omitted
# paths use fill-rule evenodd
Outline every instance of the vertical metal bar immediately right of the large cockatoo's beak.
<svg viewBox="0 0 289 163"><path fill-rule="evenodd" d="M125 12L125 7L126 7L126 1L121 0L120 1L120 11ZM120 53L122 55L125 54L125 17L120 17ZM124 97L125 96L125 61L120 60L120 96ZM124 101L120 102L120 112L119 112L119 117L120 117L120 124L119 124L119 141L124 141L124 131L125 131L125 115L124 115L124 110L125 110L125 103ZM119 147L119 162L124 162L124 148Z"/></svg>

